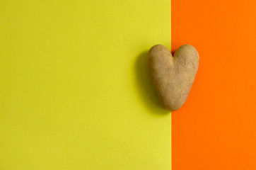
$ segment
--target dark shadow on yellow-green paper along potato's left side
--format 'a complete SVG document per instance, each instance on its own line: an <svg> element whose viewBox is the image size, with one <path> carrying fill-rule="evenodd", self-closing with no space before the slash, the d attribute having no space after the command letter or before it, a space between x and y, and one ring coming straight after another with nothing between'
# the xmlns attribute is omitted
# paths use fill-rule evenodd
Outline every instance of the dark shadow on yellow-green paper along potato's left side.
<svg viewBox="0 0 256 170"><path fill-rule="evenodd" d="M158 101L158 96L156 91L153 89L148 72L148 52L142 52L136 59L135 71L136 71L136 81L138 84L139 93L141 94L141 99L144 101L145 105L151 113L165 114L170 113L170 111L165 111Z"/></svg>

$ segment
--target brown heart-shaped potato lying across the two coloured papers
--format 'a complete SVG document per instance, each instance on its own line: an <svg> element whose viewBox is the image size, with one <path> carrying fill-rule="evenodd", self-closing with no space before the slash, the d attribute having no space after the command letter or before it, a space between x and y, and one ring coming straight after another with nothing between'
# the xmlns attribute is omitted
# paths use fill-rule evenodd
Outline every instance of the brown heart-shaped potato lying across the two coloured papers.
<svg viewBox="0 0 256 170"><path fill-rule="evenodd" d="M174 55L164 45L149 50L149 75L165 110L180 108L197 74L199 55L192 45L182 45Z"/></svg>

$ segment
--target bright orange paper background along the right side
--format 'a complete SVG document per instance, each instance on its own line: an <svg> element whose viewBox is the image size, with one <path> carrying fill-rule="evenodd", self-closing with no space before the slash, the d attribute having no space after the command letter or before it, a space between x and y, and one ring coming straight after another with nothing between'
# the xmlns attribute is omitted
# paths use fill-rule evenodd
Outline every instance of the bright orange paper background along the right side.
<svg viewBox="0 0 256 170"><path fill-rule="evenodd" d="M172 0L172 50L200 56L172 113L173 170L256 169L256 1Z"/></svg>

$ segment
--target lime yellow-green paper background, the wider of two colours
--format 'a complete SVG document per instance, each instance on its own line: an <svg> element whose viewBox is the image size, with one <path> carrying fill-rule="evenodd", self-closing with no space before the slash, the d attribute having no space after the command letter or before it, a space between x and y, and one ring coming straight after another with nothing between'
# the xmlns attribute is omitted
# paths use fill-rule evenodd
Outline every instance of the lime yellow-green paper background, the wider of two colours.
<svg viewBox="0 0 256 170"><path fill-rule="evenodd" d="M0 169L170 169L146 52L170 1L1 1Z"/></svg>

